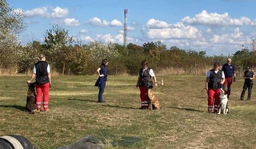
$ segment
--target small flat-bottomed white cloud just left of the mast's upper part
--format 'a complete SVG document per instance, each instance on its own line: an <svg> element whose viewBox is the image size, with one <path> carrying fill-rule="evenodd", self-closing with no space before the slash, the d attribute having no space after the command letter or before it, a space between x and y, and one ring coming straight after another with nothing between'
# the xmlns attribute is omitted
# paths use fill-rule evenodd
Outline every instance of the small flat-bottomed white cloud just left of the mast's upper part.
<svg viewBox="0 0 256 149"><path fill-rule="evenodd" d="M93 26L122 26L122 22L119 20L112 20L108 22L107 20L100 20L98 17L93 17L92 19L86 21L86 24L90 24Z"/></svg>

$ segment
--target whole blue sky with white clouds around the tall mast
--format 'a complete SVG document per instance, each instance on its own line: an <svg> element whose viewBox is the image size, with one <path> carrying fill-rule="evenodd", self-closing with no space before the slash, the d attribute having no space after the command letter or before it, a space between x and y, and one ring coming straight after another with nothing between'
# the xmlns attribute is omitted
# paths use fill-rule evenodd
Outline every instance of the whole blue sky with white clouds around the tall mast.
<svg viewBox="0 0 256 149"><path fill-rule="evenodd" d="M127 8L128 43L161 41L208 55L234 54L256 38L256 0L7 0L22 10L27 28L24 45L44 42L58 24L82 43L98 40L123 44Z"/></svg>

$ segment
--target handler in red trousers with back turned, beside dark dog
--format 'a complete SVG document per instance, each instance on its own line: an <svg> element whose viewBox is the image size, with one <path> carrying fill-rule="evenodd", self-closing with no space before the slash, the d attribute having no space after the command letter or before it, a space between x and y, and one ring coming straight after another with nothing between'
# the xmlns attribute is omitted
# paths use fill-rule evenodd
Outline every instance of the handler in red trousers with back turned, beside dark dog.
<svg viewBox="0 0 256 149"><path fill-rule="evenodd" d="M51 70L50 65L45 61L45 55L40 54L39 61L33 67L31 81L36 77L36 112L41 111L41 98L43 93L44 111L49 111L49 88L51 88Z"/></svg>

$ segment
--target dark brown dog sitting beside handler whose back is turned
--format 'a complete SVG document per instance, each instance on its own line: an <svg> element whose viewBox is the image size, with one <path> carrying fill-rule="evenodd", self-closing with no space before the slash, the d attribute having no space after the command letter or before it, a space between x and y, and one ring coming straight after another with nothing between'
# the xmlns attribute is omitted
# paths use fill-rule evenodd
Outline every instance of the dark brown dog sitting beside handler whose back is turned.
<svg viewBox="0 0 256 149"><path fill-rule="evenodd" d="M35 114L35 111L36 111L35 82L28 84L26 109L28 110L29 114Z"/></svg>

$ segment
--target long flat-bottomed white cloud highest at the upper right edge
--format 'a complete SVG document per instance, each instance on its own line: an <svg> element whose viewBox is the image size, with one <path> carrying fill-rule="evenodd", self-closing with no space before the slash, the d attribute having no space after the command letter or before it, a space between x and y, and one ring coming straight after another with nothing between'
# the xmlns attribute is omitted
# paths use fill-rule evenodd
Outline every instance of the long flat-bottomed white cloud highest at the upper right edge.
<svg viewBox="0 0 256 149"><path fill-rule="evenodd" d="M232 19L228 16L228 13L208 13L203 10L201 13L196 14L195 17L190 18L186 16L182 19L182 22L187 24L199 24L209 26L256 26L255 21L250 20L247 17L241 17L240 19Z"/></svg>

